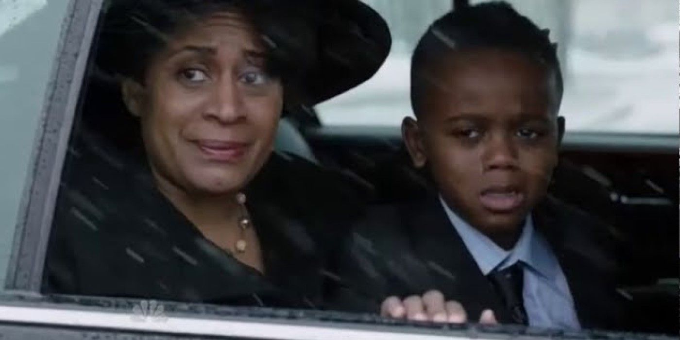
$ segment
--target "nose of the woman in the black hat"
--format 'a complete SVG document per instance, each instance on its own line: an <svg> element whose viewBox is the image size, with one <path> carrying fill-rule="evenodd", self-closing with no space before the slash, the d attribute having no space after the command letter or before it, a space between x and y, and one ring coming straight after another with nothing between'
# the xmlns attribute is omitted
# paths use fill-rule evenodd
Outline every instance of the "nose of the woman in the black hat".
<svg viewBox="0 0 680 340"><path fill-rule="evenodd" d="M207 119L220 124L232 124L245 117L243 96L233 78L222 78L211 93L210 105L205 110Z"/></svg>

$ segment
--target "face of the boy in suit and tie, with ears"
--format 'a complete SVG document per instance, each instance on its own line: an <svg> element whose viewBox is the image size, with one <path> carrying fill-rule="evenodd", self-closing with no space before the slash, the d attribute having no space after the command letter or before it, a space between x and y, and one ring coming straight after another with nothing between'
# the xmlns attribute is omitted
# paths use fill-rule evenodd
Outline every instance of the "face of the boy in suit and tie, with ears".
<svg viewBox="0 0 680 340"><path fill-rule="evenodd" d="M403 137L446 203L482 233L516 235L547 190L564 130L545 67L521 54L452 52L430 71ZM434 76L434 77L432 77Z"/></svg>

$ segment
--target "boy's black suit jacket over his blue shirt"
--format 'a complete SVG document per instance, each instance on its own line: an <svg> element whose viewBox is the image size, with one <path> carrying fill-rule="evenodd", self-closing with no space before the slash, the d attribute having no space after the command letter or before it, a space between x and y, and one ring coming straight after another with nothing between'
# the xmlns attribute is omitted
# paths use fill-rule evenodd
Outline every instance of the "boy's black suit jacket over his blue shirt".
<svg viewBox="0 0 680 340"><path fill-rule="evenodd" d="M608 227L551 198L532 214L566 275L581 326L630 328ZM511 320L437 197L370 209L340 254L337 275L339 309L379 311L387 296L437 289L462 303L471 321L488 308L499 322Z"/></svg>

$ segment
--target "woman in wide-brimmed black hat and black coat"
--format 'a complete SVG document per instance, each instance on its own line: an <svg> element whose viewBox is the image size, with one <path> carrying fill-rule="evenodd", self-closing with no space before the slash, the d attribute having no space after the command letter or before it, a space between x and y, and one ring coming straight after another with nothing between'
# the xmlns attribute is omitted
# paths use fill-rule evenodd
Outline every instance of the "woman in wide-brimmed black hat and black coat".
<svg viewBox="0 0 680 340"><path fill-rule="evenodd" d="M320 307L357 199L272 154L277 123L367 80L389 46L358 0L112 2L97 67L124 107L90 85L45 291Z"/></svg>

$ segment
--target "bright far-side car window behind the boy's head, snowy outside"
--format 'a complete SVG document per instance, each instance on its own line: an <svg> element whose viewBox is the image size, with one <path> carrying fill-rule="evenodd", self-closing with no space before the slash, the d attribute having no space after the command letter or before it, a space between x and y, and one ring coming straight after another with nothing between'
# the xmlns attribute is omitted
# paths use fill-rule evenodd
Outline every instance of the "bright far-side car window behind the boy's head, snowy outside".
<svg viewBox="0 0 680 340"><path fill-rule="evenodd" d="M445 2L367 1L386 17L396 44L375 78L320 105L324 124L397 126L411 114L415 40L405 32L424 31ZM560 114L568 131L677 133L676 1L509 2L558 42L566 85Z"/></svg>

